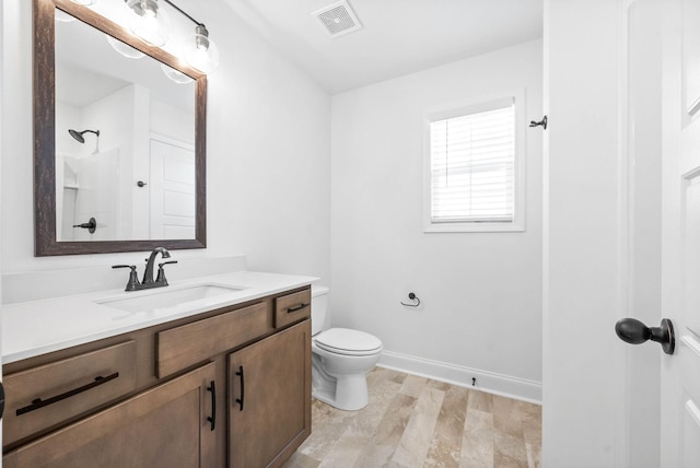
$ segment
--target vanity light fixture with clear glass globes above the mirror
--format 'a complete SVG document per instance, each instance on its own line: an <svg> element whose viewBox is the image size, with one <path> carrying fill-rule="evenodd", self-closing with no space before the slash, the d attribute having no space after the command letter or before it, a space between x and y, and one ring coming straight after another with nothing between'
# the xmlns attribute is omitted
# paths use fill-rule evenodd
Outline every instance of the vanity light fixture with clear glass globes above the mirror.
<svg viewBox="0 0 700 468"><path fill-rule="evenodd" d="M189 21L195 23L195 34L185 51L185 61L192 68L209 74L219 67L219 47L209 38L209 31L203 23L191 17L170 0L162 0ZM165 9L158 0L125 0L129 28L147 43L161 47L170 38L171 22ZM175 82L170 73L165 73Z"/></svg>

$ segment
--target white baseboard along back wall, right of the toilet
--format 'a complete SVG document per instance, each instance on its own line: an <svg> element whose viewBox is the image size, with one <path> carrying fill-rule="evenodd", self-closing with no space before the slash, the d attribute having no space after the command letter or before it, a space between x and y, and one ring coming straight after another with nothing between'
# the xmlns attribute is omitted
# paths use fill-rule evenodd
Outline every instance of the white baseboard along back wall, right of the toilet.
<svg viewBox="0 0 700 468"><path fill-rule="evenodd" d="M516 400L537 405L541 405L542 402L541 382L512 377L510 375L464 367L392 351L383 351L377 365L408 374L420 375L421 377L428 377L434 381L459 385L462 387L474 387L481 391ZM472 385L474 378L476 378L476 385Z"/></svg>

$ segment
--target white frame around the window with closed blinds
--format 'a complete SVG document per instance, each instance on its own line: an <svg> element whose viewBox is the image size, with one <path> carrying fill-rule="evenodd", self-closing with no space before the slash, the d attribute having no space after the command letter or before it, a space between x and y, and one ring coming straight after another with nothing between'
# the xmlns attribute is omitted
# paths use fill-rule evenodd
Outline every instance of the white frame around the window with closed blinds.
<svg viewBox="0 0 700 468"><path fill-rule="evenodd" d="M513 221L432 221L432 168L430 124L438 120L479 114L498 108L499 104L513 102L515 106L515 145L513 157ZM423 113L423 232L524 232L525 231L525 90L517 89L491 96L451 103L427 109Z"/></svg>

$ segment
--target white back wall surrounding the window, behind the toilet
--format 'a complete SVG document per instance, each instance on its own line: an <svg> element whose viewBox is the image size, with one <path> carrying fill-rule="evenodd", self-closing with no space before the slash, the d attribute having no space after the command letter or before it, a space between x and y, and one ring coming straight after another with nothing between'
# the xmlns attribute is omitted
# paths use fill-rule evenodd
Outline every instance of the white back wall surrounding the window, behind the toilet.
<svg viewBox="0 0 700 468"><path fill-rule="evenodd" d="M385 364L540 398L541 129L526 131L524 233L425 234L422 125L427 109L516 87L538 120L541 48L530 42L332 97L332 324L380 337ZM420 307L399 304L409 291Z"/></svg>

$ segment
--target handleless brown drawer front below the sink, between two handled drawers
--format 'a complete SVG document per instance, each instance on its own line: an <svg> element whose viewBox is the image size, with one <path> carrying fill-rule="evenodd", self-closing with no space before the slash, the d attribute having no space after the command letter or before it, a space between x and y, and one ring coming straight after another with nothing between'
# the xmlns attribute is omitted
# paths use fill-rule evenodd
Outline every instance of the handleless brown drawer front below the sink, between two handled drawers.
<svg viewBox="0 0 700 468"><path fill-rule="evenodd" d="M254 304L158 334L156 373L163 378L268 331L267 303Z"/></svg>

